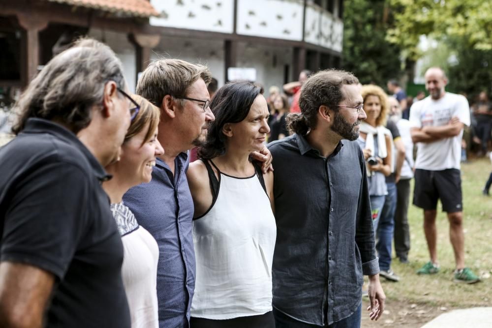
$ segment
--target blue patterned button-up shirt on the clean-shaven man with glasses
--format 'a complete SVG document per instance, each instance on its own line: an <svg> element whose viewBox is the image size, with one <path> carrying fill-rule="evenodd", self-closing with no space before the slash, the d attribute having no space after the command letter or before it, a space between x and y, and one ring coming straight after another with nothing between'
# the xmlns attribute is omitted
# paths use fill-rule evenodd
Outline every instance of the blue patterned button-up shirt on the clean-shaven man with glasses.
<svg viewBox="0 0 492 328"><path fill-rule="evenodd" d="M175 159L175 174L157 159L152 181L128 190L124 204L138 223L154 236L159 246L157 300L159 327L189 326L195 289L193 248L193 200L186 180L188 155Z"/></svg>

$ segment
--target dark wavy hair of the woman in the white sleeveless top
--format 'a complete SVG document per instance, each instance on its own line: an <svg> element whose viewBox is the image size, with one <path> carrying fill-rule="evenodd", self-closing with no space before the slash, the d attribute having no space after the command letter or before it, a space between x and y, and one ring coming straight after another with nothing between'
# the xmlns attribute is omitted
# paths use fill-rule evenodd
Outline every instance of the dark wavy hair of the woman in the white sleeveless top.
<svg viewBox="0 0 492 328"><path fill-rule="evenodd" d="M227 137L222 133L226 123L239 123L246 119L261 87L248 81L232 81L218 89L210 103L215 121L209 125L207 141L198 149L198 157L211 159L223 155Z"/></svg>

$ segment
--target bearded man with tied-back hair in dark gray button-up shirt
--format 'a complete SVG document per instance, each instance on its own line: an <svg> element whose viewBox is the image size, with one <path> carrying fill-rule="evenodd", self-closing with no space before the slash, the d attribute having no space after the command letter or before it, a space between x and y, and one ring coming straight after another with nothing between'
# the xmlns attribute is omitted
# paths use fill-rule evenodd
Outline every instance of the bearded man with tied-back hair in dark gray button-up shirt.
<svg viewBox="0 0 492 328"><path fill-rule="evenodd" d="M295 134L269 145L274 158L277 328L360 327L363 274L370 318L384 310L364 155L359 81L320 71L304 84Z"/></svg>

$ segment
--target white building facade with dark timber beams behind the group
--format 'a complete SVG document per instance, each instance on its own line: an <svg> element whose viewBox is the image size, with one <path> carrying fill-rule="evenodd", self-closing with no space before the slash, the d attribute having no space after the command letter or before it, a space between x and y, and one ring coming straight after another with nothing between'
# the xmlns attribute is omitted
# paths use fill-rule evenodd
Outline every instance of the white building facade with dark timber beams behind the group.
<svg viewBox="0 0 492 328"><path fill-rule="evenodd" d="M219 86L229 67L253 68L269 88L297 80L303 69L341 63L343 0L151 0L160 35L151 59L207 64Z"/></svg>

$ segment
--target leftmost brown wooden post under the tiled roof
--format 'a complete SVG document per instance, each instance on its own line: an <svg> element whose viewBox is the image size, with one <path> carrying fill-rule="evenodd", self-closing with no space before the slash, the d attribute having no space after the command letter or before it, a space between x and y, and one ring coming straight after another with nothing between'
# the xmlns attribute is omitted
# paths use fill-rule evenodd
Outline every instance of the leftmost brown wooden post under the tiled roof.
<svg viewBox="0 0 492 328"><path fill-rule="evenodd" d="M26 38L23 40L23 47L25 52L25 62L21 63L21 66L25 66L26 69L22 70L23 76L21 77L23 87L26 87L31 79L37 74L37 66L39 65L39 31L46 29L48 21L35 16L35 13L18 13L17 20L19 25L26 30Z"/></svg>

